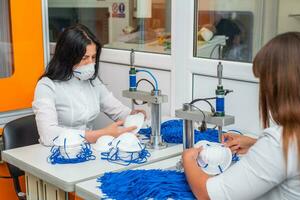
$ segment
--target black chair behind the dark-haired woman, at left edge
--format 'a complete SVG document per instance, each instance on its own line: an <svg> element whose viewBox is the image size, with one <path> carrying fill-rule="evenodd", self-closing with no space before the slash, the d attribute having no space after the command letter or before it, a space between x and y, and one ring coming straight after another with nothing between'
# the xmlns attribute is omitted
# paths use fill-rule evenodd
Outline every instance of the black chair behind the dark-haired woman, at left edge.
<svg viewBox="0 0 300 200"><path fill-rule="evenodd" d="M4 150L17 147L37 144L39 134L35 122L35 116L29 115L11 122L8 122L3 128L3 143ZM14 181L14 188L18 198L26 199L26 196L21 191L19 177L24 175L24 171L7 163L9 173Z"/></svg>

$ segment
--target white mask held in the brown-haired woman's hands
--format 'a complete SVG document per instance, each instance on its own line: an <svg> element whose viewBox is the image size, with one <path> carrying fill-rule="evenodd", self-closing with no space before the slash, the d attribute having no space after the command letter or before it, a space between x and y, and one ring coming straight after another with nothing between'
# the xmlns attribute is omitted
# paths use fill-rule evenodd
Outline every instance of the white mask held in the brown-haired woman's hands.
<svg viewBox="0 0 300 200"><path fill-rule="evenodd" d="M198 165L209 175L217 175L227 170L232 162L232 153L223 144L199 141L195 147L202 147L198 156Z"/></svg>

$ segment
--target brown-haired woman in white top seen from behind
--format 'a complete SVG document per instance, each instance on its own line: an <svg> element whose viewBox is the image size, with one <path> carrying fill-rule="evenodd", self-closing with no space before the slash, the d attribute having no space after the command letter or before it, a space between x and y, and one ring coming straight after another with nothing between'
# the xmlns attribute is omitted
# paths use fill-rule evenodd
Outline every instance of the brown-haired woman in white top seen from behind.
<svg viewBox="0 0 300 200"><path fill-rule="evenodd" d="M276 36L256 55L260 137L226 135L234 151L246 152L224 173L209 177L196 159L201 149L183 153L187 181L201 199L300 199L300 33ZM270 127L270 124L273 124Z"/></svg>

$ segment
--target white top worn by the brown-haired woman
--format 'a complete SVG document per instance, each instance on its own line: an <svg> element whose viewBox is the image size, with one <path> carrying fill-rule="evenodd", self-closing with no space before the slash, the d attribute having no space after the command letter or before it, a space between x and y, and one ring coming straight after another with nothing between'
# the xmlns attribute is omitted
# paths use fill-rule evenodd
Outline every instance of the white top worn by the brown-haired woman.
<svg viewBox="0 0 300 200"><path fill-rule="evenodd" d="M296 143L289 145L285 166L282 128L265 129L239 162L209 178L206 187L212 200L299 200L300 172Z"/></svg>

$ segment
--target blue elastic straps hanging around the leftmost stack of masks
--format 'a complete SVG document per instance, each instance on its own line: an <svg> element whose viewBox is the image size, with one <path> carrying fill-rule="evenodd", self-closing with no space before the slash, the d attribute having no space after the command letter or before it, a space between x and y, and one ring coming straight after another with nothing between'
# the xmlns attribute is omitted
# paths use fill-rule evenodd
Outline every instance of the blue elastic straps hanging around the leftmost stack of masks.
<svg viewBox="0 0 300 200"><path fill-rule="evenodd" d="M65 141L64 141L65 142ZM64 144L64 148L66 148ZM93 155L91 145L89 143L83 143L81 145L81 151L76 158L70 158L67 154L67 158L61 155L59 146L53 146L50 150L51 155L48 157L48 162L51 164L72 164L81 163L89 160L95 160L96 156Z"/></svg>

